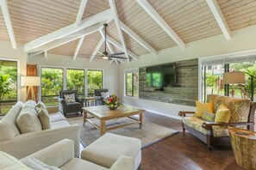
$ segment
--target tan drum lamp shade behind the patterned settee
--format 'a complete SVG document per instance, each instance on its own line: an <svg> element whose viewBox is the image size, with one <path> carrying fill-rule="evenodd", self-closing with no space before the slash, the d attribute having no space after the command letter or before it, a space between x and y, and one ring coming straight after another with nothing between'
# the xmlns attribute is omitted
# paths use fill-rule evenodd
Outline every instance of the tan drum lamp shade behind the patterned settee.
<svg viewBox="0 0 256 170"><path fill-rule="evenodd" d="M246 83L245 72L241 72L241 71L226 72L223 74L223 83L224 84L244 84Z"/></svg>

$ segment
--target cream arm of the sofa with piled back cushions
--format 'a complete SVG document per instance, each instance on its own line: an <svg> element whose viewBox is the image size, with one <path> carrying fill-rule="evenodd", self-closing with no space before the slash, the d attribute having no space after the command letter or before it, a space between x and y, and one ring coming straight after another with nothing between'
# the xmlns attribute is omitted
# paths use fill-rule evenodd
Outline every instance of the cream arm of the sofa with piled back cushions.
<svg viewBox="0 0 256 170"><path fill-rule="evenodd" d="M21 134L11 140L1 142L0 150L15 156L17 159L22 159L25 156L31 155L34 152L66 138L74 141L75 156L79 157L80 143L78 124Z"/></svg>

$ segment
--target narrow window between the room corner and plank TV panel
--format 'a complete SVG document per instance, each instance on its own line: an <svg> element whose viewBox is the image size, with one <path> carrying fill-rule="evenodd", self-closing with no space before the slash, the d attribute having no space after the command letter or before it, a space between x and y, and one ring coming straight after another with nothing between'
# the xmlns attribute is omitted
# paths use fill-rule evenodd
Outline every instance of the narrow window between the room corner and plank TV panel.
<svg viewBox="0 0 256 170"><path fill-rule="evenodd" d="M138 70L126 70L125 71L125 95L130 96L130 97L139 97L139 73L138 73Z"/></svg>

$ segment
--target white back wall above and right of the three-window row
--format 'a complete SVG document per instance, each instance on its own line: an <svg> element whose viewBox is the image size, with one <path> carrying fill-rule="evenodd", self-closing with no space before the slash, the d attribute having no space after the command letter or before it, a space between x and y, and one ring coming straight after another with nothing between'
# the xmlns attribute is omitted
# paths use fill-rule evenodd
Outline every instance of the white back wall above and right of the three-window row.
<svg viewBox="0 0 256 170"><path fill-rule="evenodd" d="M109 60L94 59L90 62L86 58L77 58L73 61L70 56L48 54L47 58L42 55L28 58L28 64L103 70L103 88L108 88L110 94L118 95L119 92L118 67L115 62L109 64Z"/></svg>

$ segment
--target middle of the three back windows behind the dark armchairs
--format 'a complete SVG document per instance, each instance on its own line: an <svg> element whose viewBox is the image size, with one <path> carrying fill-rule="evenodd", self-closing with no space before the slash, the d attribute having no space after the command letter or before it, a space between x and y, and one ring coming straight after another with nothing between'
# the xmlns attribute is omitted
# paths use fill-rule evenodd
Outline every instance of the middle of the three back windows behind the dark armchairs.
<svg viewBox="0 0 256 170"><path fill-rule="evenodd" d="M84 70L66 70L66 89L78 90L78 96L84 97Z"/></svg>

